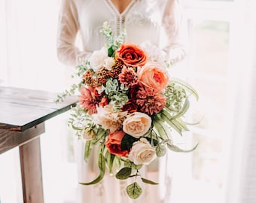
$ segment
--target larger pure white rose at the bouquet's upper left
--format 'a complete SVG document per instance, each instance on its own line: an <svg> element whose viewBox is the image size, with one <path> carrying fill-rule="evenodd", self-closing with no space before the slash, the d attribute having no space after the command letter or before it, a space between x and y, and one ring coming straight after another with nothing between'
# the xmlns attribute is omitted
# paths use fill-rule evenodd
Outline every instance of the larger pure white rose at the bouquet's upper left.
<svg viewBox="0 0 256 203"><path fill-rule="evenodd" d="M102 47L101 50L96 50L90 56L89 62L93 71L99 71L103 67L105 59L108 58L108 50L106 47Z"/></svg>

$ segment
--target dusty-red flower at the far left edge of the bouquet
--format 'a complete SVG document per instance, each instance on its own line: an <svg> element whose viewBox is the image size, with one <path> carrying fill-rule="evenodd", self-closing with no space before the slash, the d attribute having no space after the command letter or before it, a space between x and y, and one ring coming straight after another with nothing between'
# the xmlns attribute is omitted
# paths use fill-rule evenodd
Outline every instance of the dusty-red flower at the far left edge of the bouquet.
<svg viewBox="0 0 256 203"><path fill-rule="evenodd" d="M93 93L92 88L87 88L86 86L81 87L81 95L79 97L79 104L82 108L88 111L88 114L96 114L97 101Z"/></svg>

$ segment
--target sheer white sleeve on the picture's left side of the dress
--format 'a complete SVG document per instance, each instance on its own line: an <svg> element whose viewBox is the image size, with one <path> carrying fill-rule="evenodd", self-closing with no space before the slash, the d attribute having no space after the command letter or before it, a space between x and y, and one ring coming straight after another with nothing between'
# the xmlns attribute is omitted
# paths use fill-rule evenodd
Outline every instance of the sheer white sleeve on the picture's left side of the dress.
<svg viewBox="0 0 256 203"><path fill-rule="evenodd" d="M57 35L57 56L66 65L78 65L89 54L75 46L79 31L78 11L73 0L62 0Z"/></svg>

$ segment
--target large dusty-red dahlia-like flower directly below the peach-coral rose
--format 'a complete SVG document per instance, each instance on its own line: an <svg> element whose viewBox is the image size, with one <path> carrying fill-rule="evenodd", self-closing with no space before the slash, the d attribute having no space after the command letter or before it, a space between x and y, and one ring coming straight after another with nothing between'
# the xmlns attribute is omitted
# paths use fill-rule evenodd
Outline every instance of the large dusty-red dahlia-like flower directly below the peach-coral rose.
<svg viewBox="0 0 256 203"><path fill-rule="evenodd" d="M166 96L147 86L140 86L136 92L136 105L139 106L140 111L146 114L157 114L165 107Z"/></svg>

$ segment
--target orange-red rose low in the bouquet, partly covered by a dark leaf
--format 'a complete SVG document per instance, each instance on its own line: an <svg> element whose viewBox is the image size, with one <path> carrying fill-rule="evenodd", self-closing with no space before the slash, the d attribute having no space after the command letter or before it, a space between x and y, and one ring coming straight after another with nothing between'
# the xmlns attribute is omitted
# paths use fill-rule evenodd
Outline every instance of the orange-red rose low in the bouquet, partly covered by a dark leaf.
<svg viewBox="0 0 256 203"><path fill-rule="evenodd" d="M105 146L108 148L108 151L117 156L128 156L128 150L121 150L121 141L125 132L115 131L108 132L108 140L105 142Z"/></svg>

